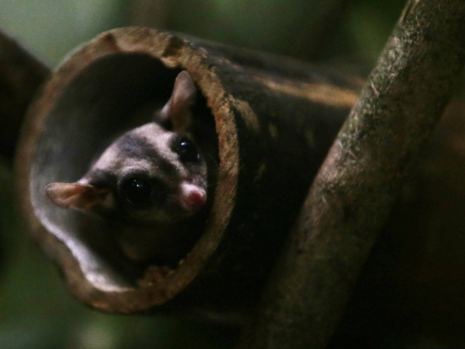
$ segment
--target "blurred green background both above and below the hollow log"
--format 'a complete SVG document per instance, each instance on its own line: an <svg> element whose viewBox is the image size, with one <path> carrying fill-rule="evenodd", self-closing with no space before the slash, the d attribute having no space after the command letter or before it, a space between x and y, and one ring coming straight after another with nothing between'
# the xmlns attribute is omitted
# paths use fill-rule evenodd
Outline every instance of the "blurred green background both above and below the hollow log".
<svg viewBox="0 0 465 349"><path fill-rule="evenodd" d="M80 42L106 29L135 23L155 24L232 45L337 64L366 74L399 17L404 1L339 1L346 4L344 12L315 34L318 20L333 3L329 0L0 0L0 28L50 67ZM319 37L318 45L314 44L318 41L314 36ZM11 164L1 160L1 349L231 347L234 331L167 316L100 314L82 306L69 295L54 266L20 228L13 197ZM391 339L389 346L396 344L399 343Z"/></svg>

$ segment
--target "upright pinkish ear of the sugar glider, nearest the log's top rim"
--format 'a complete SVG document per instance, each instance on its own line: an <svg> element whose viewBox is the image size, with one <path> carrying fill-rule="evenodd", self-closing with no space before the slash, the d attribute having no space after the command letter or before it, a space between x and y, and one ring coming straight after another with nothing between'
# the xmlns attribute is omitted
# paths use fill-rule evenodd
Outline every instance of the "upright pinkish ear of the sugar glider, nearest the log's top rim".
<svg viewBox="0 0 465 349"><path fill-rule="evenodd" d="M174 81L173 93L159 113L161 121L171 121L174 131L185 131L192 119L190 108L195 103L197 87L191 74L183 70Z"/></svg>

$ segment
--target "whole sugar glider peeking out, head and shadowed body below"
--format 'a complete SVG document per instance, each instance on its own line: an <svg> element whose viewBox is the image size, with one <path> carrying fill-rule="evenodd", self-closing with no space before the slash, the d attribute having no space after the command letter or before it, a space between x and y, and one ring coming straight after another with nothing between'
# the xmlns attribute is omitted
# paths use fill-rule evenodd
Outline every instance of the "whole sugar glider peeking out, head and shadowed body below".
<svg viewBox="0 0 465 349"><path fill-rule="evenodd" d="M191 132L196 95L190 74L180 72L153 122L118 137L80 180L47 185L46 196L60 208L108 220L133 261L169 264L182 258L205 222L212 200L207 180L215 181L216 164L208 164L217 154L208 146L200 149L205 142Z"/></svg>

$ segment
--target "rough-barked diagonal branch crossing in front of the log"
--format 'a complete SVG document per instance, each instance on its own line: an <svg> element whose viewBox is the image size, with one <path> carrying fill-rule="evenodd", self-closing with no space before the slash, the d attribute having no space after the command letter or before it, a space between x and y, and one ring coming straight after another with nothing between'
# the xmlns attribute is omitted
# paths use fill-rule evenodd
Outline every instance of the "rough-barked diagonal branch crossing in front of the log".
<svg viewBox="0 0 465 349"><path fill-rule="evenodd" d="M465 3L409 1L312 184L239 347L322 348L463 67Z"/></svg>

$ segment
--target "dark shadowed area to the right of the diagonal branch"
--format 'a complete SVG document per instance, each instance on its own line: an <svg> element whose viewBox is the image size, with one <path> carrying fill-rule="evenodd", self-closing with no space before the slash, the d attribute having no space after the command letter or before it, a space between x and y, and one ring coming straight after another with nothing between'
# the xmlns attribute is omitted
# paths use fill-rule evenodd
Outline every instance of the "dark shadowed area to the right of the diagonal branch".
<svg viewBox="0 0 465 349"><path fill-rule="evenodd" d="M449 102L421 148L328 348L464 347L464 112Z"/></svg>

